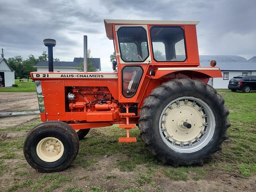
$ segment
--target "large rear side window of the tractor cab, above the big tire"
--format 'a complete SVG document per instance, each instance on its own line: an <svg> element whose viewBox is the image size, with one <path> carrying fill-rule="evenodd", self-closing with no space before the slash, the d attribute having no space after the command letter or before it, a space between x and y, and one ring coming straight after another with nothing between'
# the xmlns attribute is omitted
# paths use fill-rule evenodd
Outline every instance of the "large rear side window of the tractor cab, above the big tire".
<svg viewBox="0 0 256 192"><path fill-rule="evenodd" d="M154 60L177 62L186 60L184 32L180 27L155 26L150 29Z"/></svg>

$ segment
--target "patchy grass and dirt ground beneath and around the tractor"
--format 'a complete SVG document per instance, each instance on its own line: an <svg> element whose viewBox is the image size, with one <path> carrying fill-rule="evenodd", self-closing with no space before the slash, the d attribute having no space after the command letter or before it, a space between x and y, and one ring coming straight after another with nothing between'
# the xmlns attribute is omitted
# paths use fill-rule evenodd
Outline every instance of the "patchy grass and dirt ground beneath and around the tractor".
<svg viewBox="0 0 256 192"><path fill-rule="evenodd" d="M1 191L146 192L254 191L256 188L256 92L218 90L230 110L228 139L222 151L204 166L179 167L159 162L148 152L138 128L137 143L120 144L118 126L91 129L80 141L76 160L62 172L43 174L31 168L22 153L23 141L39 121L1 129ZM10 136L10 137L8 137ZM13 136L13 137L11 137Z"/></svg>

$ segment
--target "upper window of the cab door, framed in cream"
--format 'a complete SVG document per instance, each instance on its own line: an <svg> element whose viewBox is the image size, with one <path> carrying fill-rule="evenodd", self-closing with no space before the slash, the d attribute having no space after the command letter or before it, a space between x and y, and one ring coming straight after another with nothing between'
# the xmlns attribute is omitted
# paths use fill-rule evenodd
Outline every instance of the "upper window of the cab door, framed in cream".
<svg viewBox="0 0 256 192"><path fill-rule="evenodd" d="M149 56L146 30L121 27L117 31L120 55L124 62L144 62Z"/></svg>

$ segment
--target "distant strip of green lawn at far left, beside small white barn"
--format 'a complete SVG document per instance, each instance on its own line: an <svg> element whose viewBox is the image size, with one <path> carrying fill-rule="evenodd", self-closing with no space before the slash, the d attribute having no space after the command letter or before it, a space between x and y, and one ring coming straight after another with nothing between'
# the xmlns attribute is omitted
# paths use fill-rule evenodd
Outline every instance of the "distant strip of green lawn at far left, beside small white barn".
<svg viewBox="0 0 256 192"><path fill-rule="evenodd" d="M31 79L29 79L29 82L27 82L26 79L24 79L24 82L20 82L19 79L15 79L15 84L17 84L18 87L0 88L0 92L36 92L35 83L32 82Z"/></svg>

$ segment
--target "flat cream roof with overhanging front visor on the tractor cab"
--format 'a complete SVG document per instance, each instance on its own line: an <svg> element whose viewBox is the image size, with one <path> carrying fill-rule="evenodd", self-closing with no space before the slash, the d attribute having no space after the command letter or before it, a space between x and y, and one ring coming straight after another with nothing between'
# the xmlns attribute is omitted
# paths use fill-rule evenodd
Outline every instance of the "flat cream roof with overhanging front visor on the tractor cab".
<svg viewBox="0 0 256 192"><path fill-rule="evenodd" d="M143 24L143 25L197 25L199 21L165 21L165 20L115 20L104 19L107 37L113 39L112 24Z"/></svg>

